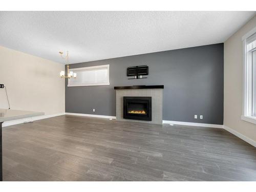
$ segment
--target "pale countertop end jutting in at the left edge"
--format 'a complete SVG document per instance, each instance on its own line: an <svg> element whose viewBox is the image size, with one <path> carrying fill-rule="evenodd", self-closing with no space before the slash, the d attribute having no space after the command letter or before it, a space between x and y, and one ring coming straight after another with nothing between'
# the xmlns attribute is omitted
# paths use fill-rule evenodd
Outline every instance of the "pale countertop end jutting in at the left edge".
<svg viewBox="0 0 256 192"><path fill-rule="evenodd" d="M0 122L45 115L43 112L0 109Z"/></svg>

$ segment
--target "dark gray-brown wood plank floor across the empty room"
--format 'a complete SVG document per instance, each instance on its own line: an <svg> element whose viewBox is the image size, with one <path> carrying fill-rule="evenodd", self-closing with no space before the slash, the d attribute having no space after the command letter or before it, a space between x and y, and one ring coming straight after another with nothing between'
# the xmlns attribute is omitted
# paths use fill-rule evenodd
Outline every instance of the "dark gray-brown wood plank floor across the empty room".
<svg viewBox="0 0 256 192"><path fill-rule="evenodd" d="M4 181L256 181L256 148L222 129L58 116L3 127Z"/></svg>

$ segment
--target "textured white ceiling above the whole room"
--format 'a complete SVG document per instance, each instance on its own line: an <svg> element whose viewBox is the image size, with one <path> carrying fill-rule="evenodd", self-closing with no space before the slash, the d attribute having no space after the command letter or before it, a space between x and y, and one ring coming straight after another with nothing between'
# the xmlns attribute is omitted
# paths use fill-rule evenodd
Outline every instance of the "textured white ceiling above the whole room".
<svg viewBox="0 0 256 192"><path fill-rule="evenodd" d="M224 42L255 12L0 12L0 45L84 62Z"/></svg>

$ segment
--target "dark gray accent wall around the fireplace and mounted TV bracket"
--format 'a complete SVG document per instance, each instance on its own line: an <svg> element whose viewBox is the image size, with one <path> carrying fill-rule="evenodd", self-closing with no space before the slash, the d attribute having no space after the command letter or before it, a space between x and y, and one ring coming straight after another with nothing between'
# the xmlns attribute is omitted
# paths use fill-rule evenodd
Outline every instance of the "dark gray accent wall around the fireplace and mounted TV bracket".
<svg viewBox="0 0 256 192"><path fill-rule="evenodd" d="M116 116L115 86L163 84L163 120L223 124L223 54L215 44L72 64L109 64L110 86L67 87L66 79L66 112ZM148 78L128 80L126 68L139 65Z"/></svg>

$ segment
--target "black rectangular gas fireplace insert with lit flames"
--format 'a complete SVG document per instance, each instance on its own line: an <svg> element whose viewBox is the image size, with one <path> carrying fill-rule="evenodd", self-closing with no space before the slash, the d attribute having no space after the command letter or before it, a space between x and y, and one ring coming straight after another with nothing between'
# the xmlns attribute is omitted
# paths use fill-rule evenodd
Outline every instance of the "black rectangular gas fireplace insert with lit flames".
<svg viewBox="0 0 256 192"><path fill-rule="evenodd" d="M123 118L152 121L151 97L123 97Z"/></svg>

